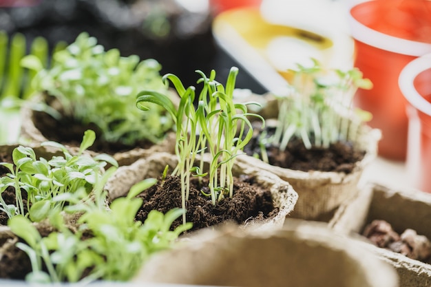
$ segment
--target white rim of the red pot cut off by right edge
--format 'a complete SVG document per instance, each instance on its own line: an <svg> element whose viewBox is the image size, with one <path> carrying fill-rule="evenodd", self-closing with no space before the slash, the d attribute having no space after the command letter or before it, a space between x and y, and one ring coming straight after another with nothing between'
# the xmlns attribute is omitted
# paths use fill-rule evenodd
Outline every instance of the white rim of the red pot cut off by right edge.
<svg viewBox="0 0 431 287"><path fill-rule="evenodd" d="M399 74L398 85L410 105L431 116L431 103L419 94L413 84L414 78L428 69L431 69L431 53L420 56L408 63Z"/></svg>

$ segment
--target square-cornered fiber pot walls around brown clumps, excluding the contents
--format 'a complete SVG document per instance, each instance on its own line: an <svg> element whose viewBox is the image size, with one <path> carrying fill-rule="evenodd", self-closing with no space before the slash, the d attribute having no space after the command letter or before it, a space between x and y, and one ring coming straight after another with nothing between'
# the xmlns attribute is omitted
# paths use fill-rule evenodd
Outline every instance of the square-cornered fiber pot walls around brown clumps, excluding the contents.
<svg viewBox="0 0 431 287"><path fill-rule="evenodd" d="M431 238L431 195L417 189L394 189L368 184L357 198L340 206L328 226L337 233L358 237L376 257L390 263L399 275L399 286L431 286L431 261L422 262L386 248L379 248L359 237L365 226L384 220L399 234L410 228ZM419 243L419 242L418 242Z"/></svg>

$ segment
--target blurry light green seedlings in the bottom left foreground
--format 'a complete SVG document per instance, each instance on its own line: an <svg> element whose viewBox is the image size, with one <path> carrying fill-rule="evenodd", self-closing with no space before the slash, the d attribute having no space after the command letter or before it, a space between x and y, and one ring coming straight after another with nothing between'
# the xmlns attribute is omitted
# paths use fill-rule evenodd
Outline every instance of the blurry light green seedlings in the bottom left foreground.
<svg viewBox="0 0 431 287"><path fill-rule="evenodd" d="M68 228L59 211L50 213L50 223L56 231L47 237L42 237L30 220L21 215L9 220L12 232L25 242L17 243L17 247L28 254L32 264L32 273L27 275L27 281L127 281L149 256L169 248L180 233L191 228L189 223L174 231L169 230L172 222L184 213L181 209L173 209L165 215L151 211L144 223L135 221L143 204L136 194L151 187L156 182L154 179L138 182L127 197L114 200L107 209L103 187L114 171L115 168L108 169L95 184L94 198L88 198L88 195L84 198L68 197L65 211L83 213L76 232Z"/></svg>

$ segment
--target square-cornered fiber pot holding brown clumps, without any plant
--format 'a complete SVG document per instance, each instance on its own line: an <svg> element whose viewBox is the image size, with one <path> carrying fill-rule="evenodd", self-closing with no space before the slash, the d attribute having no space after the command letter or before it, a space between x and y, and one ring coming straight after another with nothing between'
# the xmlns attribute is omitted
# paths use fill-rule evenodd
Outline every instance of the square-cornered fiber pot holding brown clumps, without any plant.
<svg viewBox="0 0 431 287"><path fill-rule="evenodd" d="M431 195L370 183L329 223L395 268L400 286L429 286Z"/></svg>

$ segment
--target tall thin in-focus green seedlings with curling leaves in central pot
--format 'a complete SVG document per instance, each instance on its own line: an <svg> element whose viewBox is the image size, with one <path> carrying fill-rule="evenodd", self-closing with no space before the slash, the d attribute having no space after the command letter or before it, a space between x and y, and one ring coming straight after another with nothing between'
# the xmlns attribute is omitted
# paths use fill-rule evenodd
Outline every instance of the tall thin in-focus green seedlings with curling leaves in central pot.
<svg viewBox="0 0 431 287"><path fill-rule="evenodd" d="M215 71L211 71L209 78L201 71L197 72L202 76L198 83L203 85L197 107L194 105L196 88L186 89L173 74L166 74L163 80L167 84L171 81L176 88L180 96L178 107L175 107L168 96L159 92L145 90L136 98L136 106L139 109L148 111L147 103L156 103L167 109L174 118L178 165L172 175L181 178L182 208L185 208L189 197L189 179L193 173L198 176L209 175L213 204L225 195L232 195L234 159L253 135L248 117L257 116L247 112L247 105L252 103L233 103L238 68L231 68L225 87L215 81ZM257 117L263 121L262 117ZM194 165L198 153L205 151L209 152L212 158L206 173L203 171L202 161L199 166Z"/></svg>

